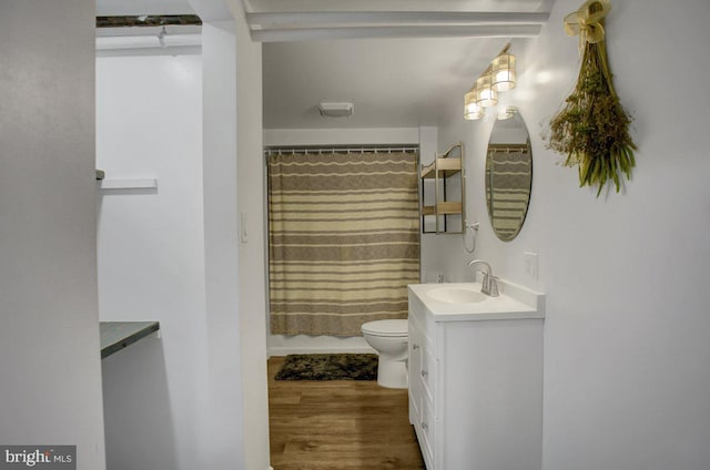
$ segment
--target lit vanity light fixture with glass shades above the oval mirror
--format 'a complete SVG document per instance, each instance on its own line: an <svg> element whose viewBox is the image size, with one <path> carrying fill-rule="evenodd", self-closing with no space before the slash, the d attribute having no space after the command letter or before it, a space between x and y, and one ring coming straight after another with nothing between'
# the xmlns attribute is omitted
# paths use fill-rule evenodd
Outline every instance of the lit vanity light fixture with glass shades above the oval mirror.
<svg viewBox="0 0 710 470"><path fill-rule="evenodd" d="M477 120L484 116L484 108L498 104L498 92L515 88L515 55L508 52L510 43L496 55L476 84L464 95L464 119Z"/></svg>

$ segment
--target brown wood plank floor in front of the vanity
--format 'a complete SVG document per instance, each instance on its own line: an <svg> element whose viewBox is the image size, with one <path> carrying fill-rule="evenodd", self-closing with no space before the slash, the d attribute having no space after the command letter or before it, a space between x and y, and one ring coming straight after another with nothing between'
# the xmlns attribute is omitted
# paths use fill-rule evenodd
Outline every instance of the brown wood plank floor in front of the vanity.
<svg viewBox="0 0 710 470"><path fill-rule="evenodd" d="M268 359L268 425L274 470L422 470L407 390L376 381L274 380Z"/></svg>

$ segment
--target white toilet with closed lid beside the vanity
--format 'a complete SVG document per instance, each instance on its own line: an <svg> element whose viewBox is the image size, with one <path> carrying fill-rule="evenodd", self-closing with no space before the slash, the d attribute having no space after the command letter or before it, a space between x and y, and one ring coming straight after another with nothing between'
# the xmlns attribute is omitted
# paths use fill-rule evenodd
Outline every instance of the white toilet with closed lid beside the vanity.
<svg viewBox="0 0 710 470"><path fill-rule="evenodd" d="M363 324L361 330L379 355L377 384L387 388L407 388L407 320L377 320Z"/></svg>

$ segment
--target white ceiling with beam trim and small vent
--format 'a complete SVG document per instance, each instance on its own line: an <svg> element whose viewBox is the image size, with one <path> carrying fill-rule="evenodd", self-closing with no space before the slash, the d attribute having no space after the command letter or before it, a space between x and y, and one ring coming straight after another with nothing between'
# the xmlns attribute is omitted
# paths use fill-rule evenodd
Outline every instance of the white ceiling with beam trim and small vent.
<svg viewBox="0 0 710 470"><path fill-rule="evenodd" d="M546 17L530 13L555 0L242 1L263 43L264 127L349 129L444 123L507 42L524 51ZM97 14L192 13L190 2L97 0ZM323 117L323 101L352 102L355 112Z"/></svg>

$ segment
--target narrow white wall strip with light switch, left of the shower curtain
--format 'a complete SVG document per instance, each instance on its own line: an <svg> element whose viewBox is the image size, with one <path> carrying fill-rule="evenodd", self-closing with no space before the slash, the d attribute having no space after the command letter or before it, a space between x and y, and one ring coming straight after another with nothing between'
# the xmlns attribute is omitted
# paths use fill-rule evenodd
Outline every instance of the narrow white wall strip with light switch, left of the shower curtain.
<svg viewBox="0 0 710 470"><path fill-rule="evenodd" d="M264 263L262 45L252 42L242 3L236 18L237 208L247 237L240 237L240 341L244 390L245 469L268 468L268 389Z"/></svg>

